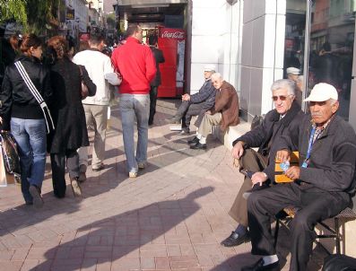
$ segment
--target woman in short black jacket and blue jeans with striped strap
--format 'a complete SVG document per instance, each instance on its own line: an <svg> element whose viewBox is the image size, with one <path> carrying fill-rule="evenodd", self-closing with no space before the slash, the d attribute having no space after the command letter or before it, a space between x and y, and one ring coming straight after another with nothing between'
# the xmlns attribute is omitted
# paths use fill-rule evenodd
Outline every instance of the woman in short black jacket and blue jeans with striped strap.
<svg viewBox="0 0 356 271"><path fill-rule="evenodd" d="M41 40L36 35L26 35L20 49L22 55L15 59L15 63L18 61L22 63L30 81L44 101L49 103L52 98L49 71L39 62L42 55ZM46 164L46 120L39 102L30 92L14 64L7 66L5 70L0 101L3 129L11 128L18 144L22 195L26 205L40 207L43 205L40 189Z"/></svg>

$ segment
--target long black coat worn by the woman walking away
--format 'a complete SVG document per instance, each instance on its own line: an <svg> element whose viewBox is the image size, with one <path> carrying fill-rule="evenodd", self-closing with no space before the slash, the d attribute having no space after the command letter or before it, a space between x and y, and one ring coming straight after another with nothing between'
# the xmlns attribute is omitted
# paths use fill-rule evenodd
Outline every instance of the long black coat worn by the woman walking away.
<svg viewBox="0 0 356 271"><path fill-rule="evenodd" d="M81 74L79 66L69 59L60 59L51 66L51 83L56 103L49 109L55 122L55 131L48 136L48 153L65 153L89 145L85 113L82 107ZM82 66L83 81L89 95L96 92L86 69Z"/></svg>

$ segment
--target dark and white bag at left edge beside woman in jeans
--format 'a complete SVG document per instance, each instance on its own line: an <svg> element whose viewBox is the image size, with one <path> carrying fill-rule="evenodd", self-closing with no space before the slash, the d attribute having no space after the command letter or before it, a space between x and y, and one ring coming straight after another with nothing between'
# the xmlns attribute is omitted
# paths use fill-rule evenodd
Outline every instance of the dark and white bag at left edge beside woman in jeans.
<svg viewBox="0 0 356 271"><path fill-rule="evenodd" d="M9 131L0 132L0 187L6 186L10 181L7 174L12 174L14 179L20 179L21 165L17 144ZM3 170L4 169L4 170ZM13 181L12 181L13 182Z"/></svg>

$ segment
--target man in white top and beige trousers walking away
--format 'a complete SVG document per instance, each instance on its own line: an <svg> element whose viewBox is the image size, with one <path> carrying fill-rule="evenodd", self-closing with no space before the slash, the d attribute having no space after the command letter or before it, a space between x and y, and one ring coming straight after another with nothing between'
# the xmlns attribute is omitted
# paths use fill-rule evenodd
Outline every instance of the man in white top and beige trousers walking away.
<svg viewBox="0 0 356 271"><path fill-rule="evenodd" d="M114 73L110 58L103 53L105 47L104 38L91 35L89 49L77 53L73 61L77 65L85 66L91 81L97 86L97 92L92 97L82 101L86 125L93 124L94 144L92 148L91 170L100 171L104 169L105 139L108 122L109 107L109 83L105 80L105 74ZM79 181L86 179L85 172L88 166L88 148L81 147L79 153L80 176Z"/></svg>

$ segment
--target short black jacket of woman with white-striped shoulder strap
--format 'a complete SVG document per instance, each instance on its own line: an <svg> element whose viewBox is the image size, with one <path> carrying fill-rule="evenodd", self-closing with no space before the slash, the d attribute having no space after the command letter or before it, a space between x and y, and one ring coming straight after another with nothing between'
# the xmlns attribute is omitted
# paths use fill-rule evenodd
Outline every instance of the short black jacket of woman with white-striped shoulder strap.
<svg viewBox="0 0 356 271"><path fill-rule="evenodd" d="M20 56L15 61L21 61L30 80L49 105L52 101L52 89L49 70L42 66L35 57ZM22 80L14 64L7 66L0 92L0 116L4 118L4 129L10 128L10 118L39 119L44 118L39 103L31 94L26 83Z"/></svg>

